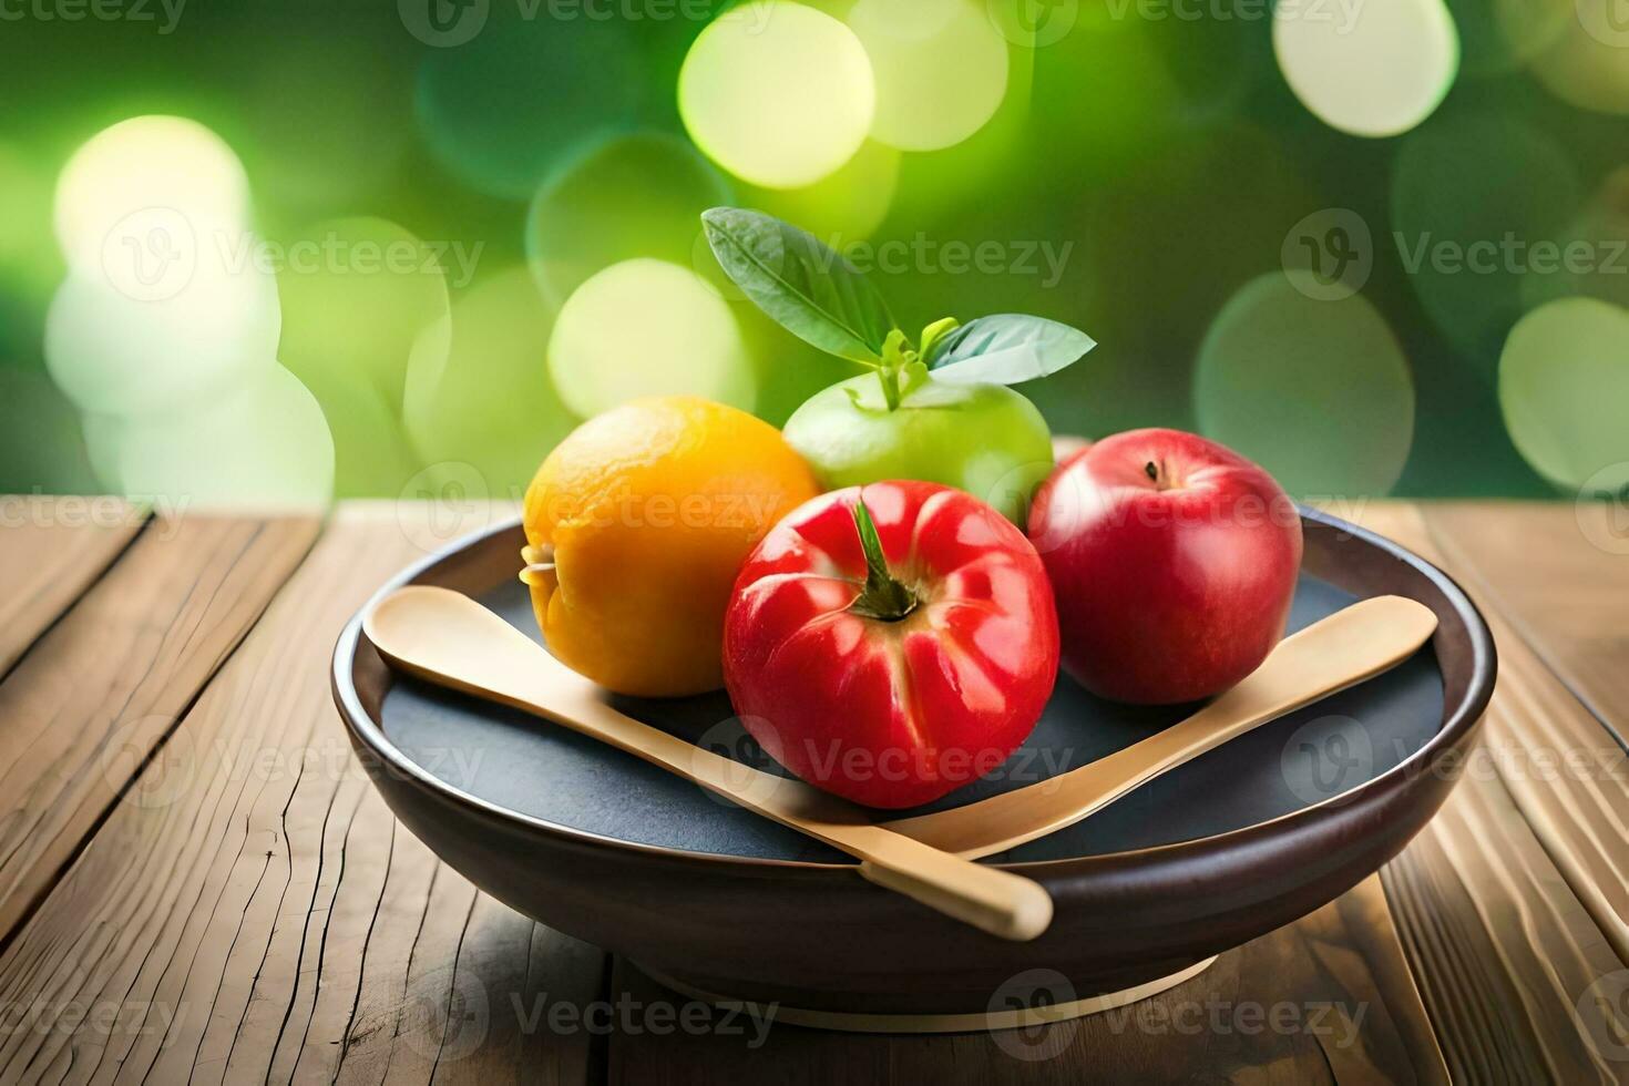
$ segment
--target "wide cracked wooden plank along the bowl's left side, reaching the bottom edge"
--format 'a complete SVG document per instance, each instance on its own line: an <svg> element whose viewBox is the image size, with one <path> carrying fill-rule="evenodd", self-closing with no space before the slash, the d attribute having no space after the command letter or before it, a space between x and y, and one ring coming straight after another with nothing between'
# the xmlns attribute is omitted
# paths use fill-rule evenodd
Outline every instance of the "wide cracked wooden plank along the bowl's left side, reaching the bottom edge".
<svg viewBox="0 0 1629 1086"><path fill-rule="evenodd" d="M593 998L603 954L440 865L332 707L340 625L422 555L412 510L340 508L143 770L166 801L119 804L0 954L0 1006L114 1016L0 1034L0 1081L585 1081L593 1037L529 1011Z"/></svg>

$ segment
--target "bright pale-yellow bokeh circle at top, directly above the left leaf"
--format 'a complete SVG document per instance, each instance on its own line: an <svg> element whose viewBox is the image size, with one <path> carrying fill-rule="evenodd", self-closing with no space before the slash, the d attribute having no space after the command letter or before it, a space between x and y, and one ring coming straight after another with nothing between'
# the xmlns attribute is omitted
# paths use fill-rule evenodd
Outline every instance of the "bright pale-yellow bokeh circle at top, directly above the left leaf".
<svg viewBox="0 0 1629 1086"><path fill-rule="evenodd" d="M810 186L860 150L876 106L865 46L832 16L787 0L718 16L679 70L696 145L769 189Z"/></svg>

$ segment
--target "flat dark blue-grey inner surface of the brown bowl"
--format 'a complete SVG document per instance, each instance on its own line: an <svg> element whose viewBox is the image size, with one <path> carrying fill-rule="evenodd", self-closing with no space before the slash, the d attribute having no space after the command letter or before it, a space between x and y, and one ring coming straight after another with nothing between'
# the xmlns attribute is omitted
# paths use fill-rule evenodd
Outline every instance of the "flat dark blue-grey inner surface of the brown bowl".
<svg viewBox="0 0 1629 1086"><path fill-rule="evenodd" d="M1339 611L1350 593L1302 576L1290 614L1298 630ZM541 640L526 588L505 581L482 602ZM722 694L619 703L668 733L772 772L774 760L733 718ZM987 778L904 817L1034 785L1176 723L1194 707L1104 702L1067 676L1023 747ZM384 697L384 734L446 783L497 806L604 837L689 852L844 861L784 825L714 796L629 754L518 710L401 681ZM1328 799L1394 767L1442 725L1442 674L1430 650L1350 690L1264 725L1072 827L997 860L1062 860L1210 837Z"/></svg>

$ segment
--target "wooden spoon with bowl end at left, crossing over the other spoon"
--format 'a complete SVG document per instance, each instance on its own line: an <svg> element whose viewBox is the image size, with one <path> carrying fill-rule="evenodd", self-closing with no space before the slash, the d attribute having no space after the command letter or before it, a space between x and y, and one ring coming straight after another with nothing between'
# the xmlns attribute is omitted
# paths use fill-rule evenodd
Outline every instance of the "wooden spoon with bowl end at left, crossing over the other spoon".
<svg viewBox="0 0 1629 1086"><path fill-rule="evenodd" d="M384 659L409 674L546 716L674 772L857 856L862 876L929 909L1018 941L1052 922L1052 899L1039 882L889 832L863 808L617 712L603 689L468 596L401 588L363 617L362 628Z"/></svg>

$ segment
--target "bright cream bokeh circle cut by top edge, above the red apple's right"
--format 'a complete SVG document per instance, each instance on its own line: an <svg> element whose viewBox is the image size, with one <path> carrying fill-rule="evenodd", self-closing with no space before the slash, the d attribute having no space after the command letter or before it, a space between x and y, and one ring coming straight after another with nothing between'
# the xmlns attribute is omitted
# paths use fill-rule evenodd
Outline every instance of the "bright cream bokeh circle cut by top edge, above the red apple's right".
<svg viewBox="0 0 1629 1086"><path fill-rule="evenodd" d="M1460 36L1442 0L1350 10L1287 0L1272 13L1284 80L1319 120L1385 137L1430 116L1460 67Z"/></svg>

